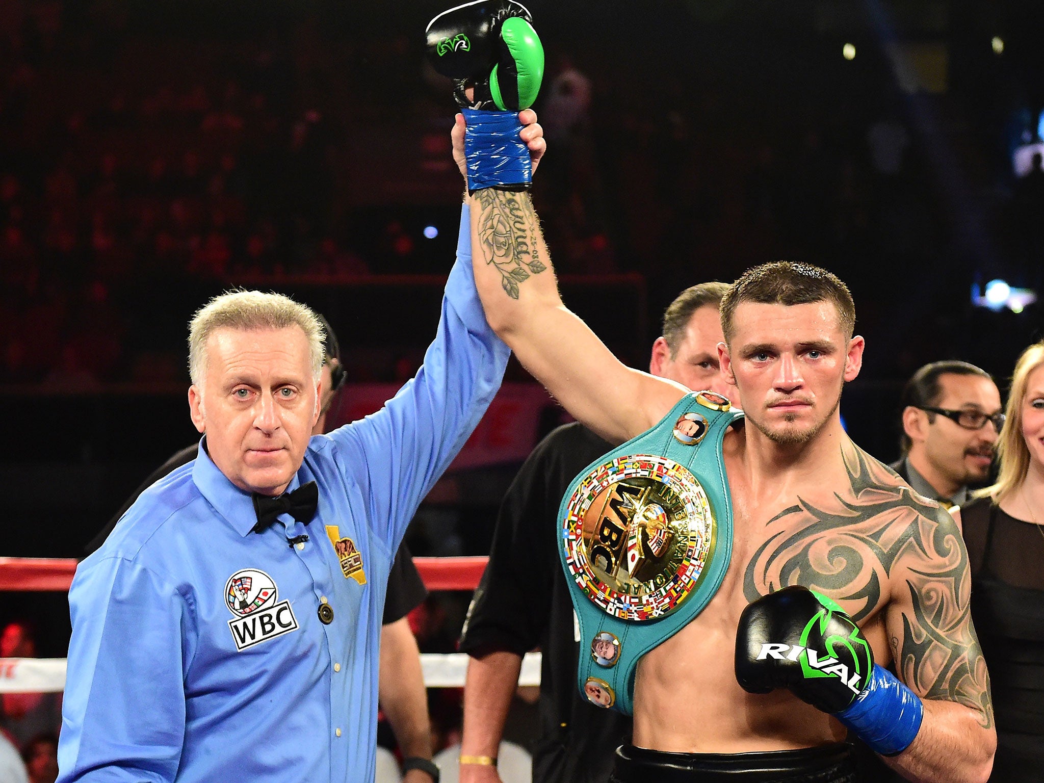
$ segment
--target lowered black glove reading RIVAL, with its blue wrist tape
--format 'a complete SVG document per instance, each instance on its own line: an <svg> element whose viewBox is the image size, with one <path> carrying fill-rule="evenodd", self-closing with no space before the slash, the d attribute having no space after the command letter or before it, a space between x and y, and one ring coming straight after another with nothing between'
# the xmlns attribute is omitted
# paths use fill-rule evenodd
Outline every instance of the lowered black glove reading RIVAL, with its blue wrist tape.
<svg viewBox="0 0 1044 783"><path fill-rule="evenodd" d="M921 728L921 699L874 654L841 608L796 586L752 602L736 631L736 680L751 693L787 688L834 715L873 750L902 753Z"/></svg>

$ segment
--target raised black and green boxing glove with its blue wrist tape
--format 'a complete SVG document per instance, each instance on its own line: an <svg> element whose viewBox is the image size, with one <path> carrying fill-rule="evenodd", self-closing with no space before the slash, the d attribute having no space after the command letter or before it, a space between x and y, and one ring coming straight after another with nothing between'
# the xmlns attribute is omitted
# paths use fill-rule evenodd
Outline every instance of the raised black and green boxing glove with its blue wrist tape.
<svg viewBox="0 0 1044 783"><path fill-rule="evenodd" d="M544 49L531 21L514 0L476 0L428 24L428 57L436 71L454 79L453 94L467 123L471 192L525 190L531 183L529 149L519 137L518 119L518 112L537 99L544 78Z"/></svg>

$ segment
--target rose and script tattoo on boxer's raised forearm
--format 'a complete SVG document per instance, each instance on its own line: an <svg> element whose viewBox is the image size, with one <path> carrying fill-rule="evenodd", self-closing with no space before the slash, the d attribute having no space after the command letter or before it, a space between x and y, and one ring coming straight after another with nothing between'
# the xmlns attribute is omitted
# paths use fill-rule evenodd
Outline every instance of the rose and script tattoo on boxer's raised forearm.
<svg viewBox="0 0 1044 783"><path fill-rule="evenodd" d="M519 283L547 267L540 260L540 228L529 194L484 188L475 193L480 213L478 241L488 264L500 272L500 285L512 299L519 298Z"/></svg>

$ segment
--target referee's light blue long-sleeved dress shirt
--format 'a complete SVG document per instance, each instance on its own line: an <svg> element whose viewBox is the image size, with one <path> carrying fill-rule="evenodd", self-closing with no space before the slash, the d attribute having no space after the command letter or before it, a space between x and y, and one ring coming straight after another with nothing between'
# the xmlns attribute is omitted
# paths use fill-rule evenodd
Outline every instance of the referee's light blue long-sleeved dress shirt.
<svg viewBox="0 0 1044 783"><path fill-rule="evenodd" d="M318 485L307 526L282 515L253 532L251 495L200 449L79 565L61 783L374 779L388 570L509 353L485 322L470 236L466 207L417 377L377 413L311 438L288 488Z"/></svg>

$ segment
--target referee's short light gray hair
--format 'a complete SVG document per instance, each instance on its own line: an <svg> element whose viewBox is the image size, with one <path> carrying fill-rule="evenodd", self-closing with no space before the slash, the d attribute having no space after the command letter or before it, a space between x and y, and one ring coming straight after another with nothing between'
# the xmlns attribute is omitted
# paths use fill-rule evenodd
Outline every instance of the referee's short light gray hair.
<svg viewBox="0 0 1044 783"><path fill-rule="evenodd" d="M189 322L189 375L199 385L207 373L207 340L218 329L253 331L301 327L308 338L312 375L323 371L323 323L307 305L282 293L226 291L200 307Z"/></svg>

